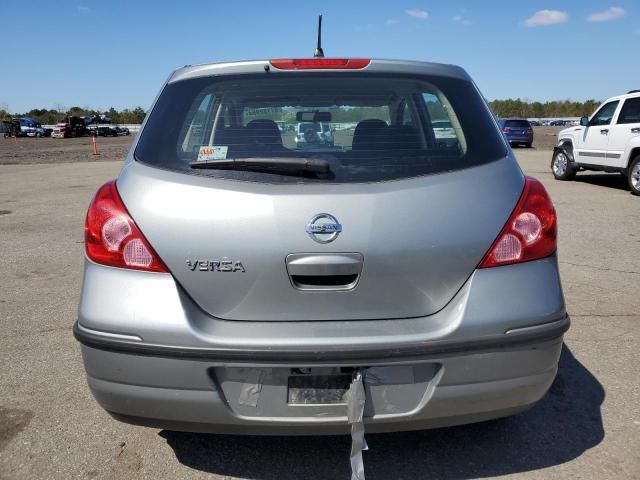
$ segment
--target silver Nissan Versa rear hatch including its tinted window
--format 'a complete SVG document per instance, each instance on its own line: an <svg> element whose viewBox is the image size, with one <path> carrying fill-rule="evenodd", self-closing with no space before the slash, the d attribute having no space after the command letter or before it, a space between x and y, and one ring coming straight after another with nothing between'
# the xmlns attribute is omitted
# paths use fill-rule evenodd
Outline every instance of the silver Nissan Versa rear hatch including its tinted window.
<svg viewBox="0 0 640 480"><path fill-rule="evenodd" d="M458 138L443 145L444 115ZM300 121L330 124L335 145L298 150ZM523 186L505 155L464 78L205 76L165 87L117 187L212 316L407 318L442 309L500 232Z"/></svg>

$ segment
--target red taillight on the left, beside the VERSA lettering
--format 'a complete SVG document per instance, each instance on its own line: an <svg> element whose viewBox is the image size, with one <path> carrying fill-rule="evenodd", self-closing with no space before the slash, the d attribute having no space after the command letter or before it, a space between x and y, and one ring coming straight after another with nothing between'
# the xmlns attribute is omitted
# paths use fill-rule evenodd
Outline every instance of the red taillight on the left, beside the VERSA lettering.
<svg viewBox="0 0 640 480"><path fill-rule="evenodd" d="M110 267L168 273L125 208L116 181L105 183L93 197L84 226L90 260Z"/></svg>

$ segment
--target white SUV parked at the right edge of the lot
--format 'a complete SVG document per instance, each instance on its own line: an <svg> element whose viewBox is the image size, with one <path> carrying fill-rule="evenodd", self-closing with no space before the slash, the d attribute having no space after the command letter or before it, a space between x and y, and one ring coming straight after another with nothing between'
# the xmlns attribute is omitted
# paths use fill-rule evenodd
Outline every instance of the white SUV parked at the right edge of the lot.
<svg viewBox="0 0 640 480"><path fill-rule="evenodd" d="M621 173L631 193L640 195L640 90L608 99L580 126L558 133L553 176L571 180L584 170Z"/></svg>

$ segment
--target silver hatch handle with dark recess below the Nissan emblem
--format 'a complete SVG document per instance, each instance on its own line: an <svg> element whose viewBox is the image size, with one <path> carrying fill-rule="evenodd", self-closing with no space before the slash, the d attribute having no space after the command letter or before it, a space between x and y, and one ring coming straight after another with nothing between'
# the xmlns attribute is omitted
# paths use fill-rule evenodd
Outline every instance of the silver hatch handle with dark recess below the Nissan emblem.
<svg viewBox="0 0 640 480"><path fill-rule="evenodd" d="M294 288L307 291L352 290L358 284L361 253L291 253L287 273Z"/></svg>

